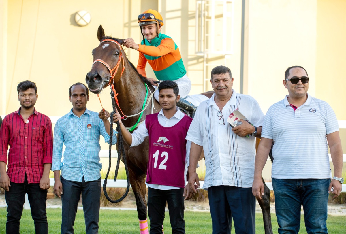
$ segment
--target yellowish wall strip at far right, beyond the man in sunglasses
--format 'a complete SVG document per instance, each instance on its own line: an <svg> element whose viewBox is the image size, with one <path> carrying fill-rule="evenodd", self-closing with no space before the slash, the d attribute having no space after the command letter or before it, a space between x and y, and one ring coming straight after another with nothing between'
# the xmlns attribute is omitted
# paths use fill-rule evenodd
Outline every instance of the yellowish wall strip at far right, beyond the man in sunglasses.
<svg viewBox="0 0 346 234"><path fill-rule="evenodd" d="M333 107L339 120L346 120L345 12L344 0L317 1L316 96Z"/></svg>

